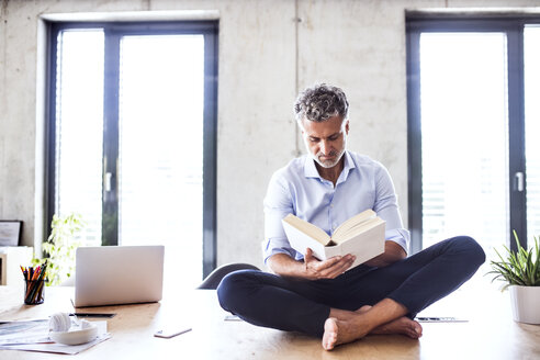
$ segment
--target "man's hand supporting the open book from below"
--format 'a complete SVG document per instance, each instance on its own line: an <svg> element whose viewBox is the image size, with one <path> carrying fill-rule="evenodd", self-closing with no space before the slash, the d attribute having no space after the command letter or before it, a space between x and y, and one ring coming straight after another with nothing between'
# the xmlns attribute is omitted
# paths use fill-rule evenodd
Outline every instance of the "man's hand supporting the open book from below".
<svg viewBox="0 0 540 360"><path fill-rule="evenodd" d="M334 279L342 274L355 262L356 257L347 254L346 256L335 256L320 261L313 256L312 249L305 250L305 278L311 280Z"/></svg>

